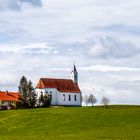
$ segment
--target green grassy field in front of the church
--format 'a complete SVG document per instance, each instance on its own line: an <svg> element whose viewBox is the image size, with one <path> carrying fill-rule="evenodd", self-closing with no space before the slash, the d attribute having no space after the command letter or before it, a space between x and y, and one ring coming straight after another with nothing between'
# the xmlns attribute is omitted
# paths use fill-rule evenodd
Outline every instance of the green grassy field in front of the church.
<svg viewBox="0 0 140 140"><path fill-rule="evenodd" d="M0 111L0 140L140 140L140 106Z"/></svg>

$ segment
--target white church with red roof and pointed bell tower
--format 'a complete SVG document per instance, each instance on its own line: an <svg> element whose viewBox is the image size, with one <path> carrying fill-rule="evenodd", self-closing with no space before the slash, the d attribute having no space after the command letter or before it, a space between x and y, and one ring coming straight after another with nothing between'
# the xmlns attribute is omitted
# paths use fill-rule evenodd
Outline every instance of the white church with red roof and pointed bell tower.
<svg viewBox="0 0 140 140"><path fill-rule="evenodd" d="M74 65L71 79L40 78L36 86L37 98L41 94L51 97L51 105L81 106L81 91L78 86L78 72Z"/></svg>

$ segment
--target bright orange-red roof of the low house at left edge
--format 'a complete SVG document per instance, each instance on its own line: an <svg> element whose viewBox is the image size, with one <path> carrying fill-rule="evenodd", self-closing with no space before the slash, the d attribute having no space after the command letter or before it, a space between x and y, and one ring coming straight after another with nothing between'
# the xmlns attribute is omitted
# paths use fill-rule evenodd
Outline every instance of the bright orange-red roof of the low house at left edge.
<svg viewBox="0 0 140 140"><path fill-rule="evenodd" d="M19 101L19 94L17 92L3 92L0 91L0 101Z"/></svg>

